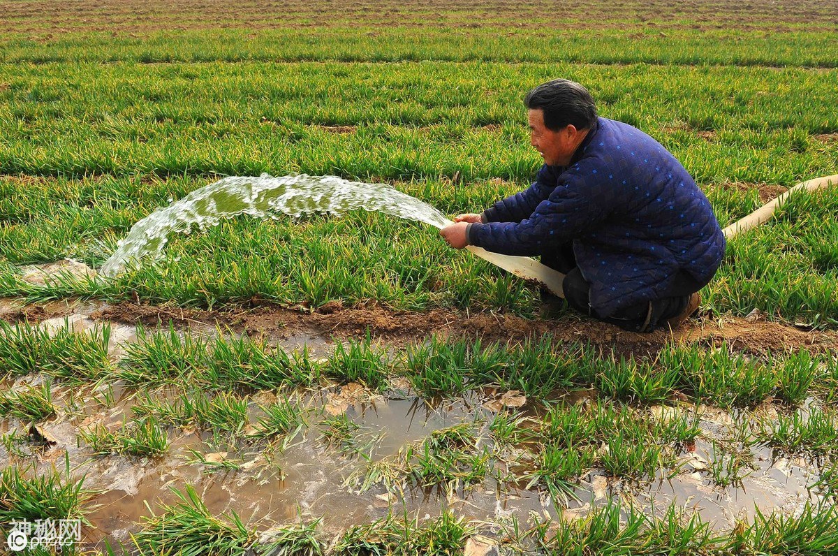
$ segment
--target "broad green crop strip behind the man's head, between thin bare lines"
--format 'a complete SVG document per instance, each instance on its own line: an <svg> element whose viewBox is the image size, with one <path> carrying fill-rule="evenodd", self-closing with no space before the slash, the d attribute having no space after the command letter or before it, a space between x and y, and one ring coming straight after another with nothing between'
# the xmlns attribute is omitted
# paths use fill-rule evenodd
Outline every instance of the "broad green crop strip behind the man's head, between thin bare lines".
<svg viewBox="0 0 838 556"><path fill-rule="evenodd" d="M700 182L788 185L835 172L838 143L811 134L838 132L836 71L2 65L0 81L8 86L0 89L0 171L530 179L540 161L521 99L530 87L563 76L587 86L604 117L659 138Z"/></svg>

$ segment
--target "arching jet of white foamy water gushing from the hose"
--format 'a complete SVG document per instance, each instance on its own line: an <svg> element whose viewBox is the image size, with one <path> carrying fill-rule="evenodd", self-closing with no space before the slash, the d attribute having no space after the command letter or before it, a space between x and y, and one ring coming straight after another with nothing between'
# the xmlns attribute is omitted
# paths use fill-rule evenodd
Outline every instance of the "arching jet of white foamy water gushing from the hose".
<svg viewBox="0 0 838 556"><path fill-rule="evenodd" d="M100 273L113 277L142 257L159 257L173 232L200 231L238 215L277 218L312 212L339 215L347 210L376 210L391 216L421 221L437 228L451 224L431 205L382 184L348 181L337 176L300 174L275 178L220 179L183 199L155 210L132 226Z"/></svg>

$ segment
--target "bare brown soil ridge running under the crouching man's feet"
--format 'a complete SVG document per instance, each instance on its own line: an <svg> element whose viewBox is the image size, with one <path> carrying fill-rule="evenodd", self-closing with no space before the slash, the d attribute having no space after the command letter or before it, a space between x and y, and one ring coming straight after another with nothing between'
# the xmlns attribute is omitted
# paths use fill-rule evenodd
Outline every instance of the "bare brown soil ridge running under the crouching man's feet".
<svg viewBox="0 0 838 556"><path fill-rule="evenodd" d="M184 309L166 305L134 303L91 304L80 301L54 301L46 304L19 304L0 300L0 319L39 322L69 314L85 313L95 321L114 321L122 325L168 325L229 327L237 333L260 336L266 340L311 337L339 339L358 337L370 332L376 339L393 346L403 346L429 335L478 336L484 341L521 341L551 334L565 342L590 342L613 348L619 354L645 355L660 350L670 342L718 346L722 342L739 351L753 354L810 351L838 348L838 332L804 330L794 325L764 320L724 316L694 318L676 330L657 330L638 334L616 326L567 314L556 320L525 319L512 314L472 313L433 309L425 313L398 311L375 304L345 308L328 304L310 313L266 304L254 308L221 310Z"/></svg>

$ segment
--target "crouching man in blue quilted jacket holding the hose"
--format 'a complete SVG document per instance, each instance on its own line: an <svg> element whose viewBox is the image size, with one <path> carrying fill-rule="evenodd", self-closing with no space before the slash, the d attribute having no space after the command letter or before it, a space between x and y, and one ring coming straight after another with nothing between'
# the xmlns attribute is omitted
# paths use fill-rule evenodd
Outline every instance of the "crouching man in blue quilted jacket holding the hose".
<svg viewBox="0 0 838 556"><path fill-rule="evenodd" d="M680 325L725 252L710 201L660 143L597 117L578 83L544 83L525 105L545 163L535 184L440 235L458 249L540 255L566 273L567 303L595 319L638 332Z"/></svg>

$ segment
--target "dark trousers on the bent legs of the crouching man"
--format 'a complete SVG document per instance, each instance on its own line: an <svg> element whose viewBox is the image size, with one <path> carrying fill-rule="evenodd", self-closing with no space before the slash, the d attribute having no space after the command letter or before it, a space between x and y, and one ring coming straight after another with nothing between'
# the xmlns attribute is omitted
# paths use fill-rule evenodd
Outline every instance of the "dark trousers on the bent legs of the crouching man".
<svg viewBox="0 0 838 556"><path fill-rule="evenodd" d="M571 242L563 244L550 255L542 255L541 263L566 274L562 287L565 291L567 304L573 309L594 319L618 325L623 330L632 332L651 332L659 325L664 324L666 320L680 314L686 309L691 294L696 293L707 284L707 282L698 282L684 271L679 271L672 286L660 299L623 307L611 316L603 317L591 307L588 297L591 284L587 283L585 278L582 278L582 272L577 267Z"/></svg>

